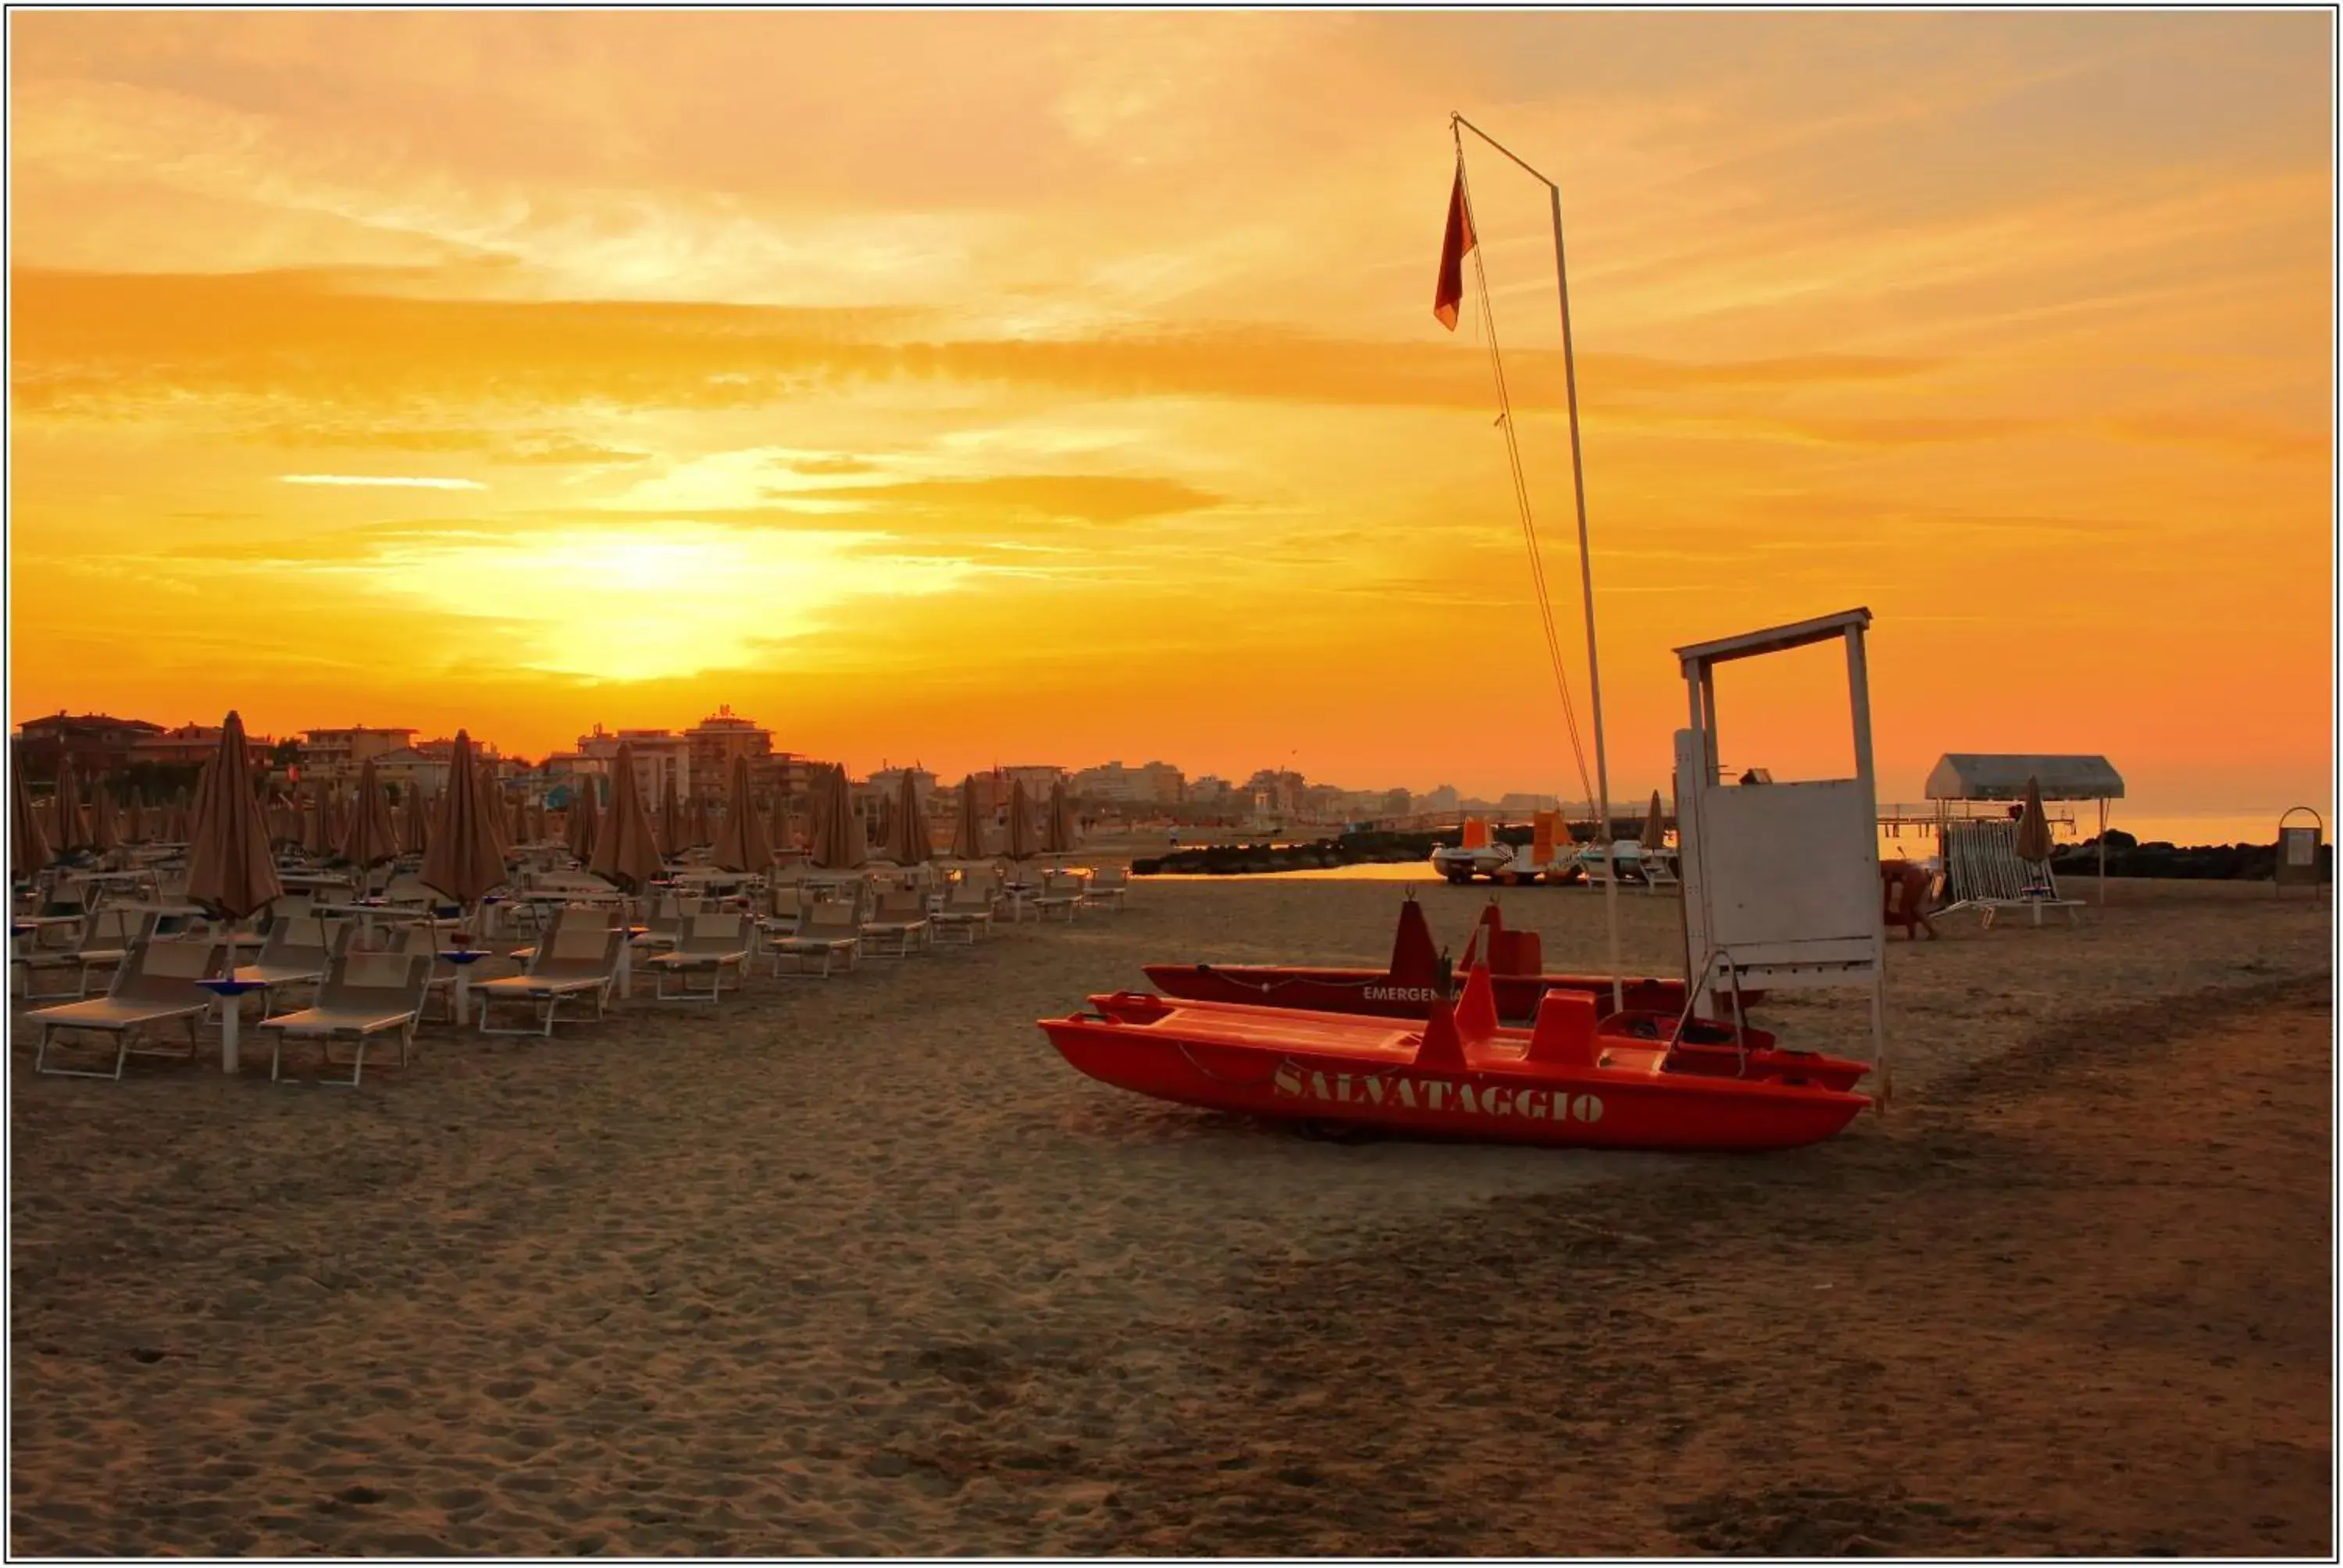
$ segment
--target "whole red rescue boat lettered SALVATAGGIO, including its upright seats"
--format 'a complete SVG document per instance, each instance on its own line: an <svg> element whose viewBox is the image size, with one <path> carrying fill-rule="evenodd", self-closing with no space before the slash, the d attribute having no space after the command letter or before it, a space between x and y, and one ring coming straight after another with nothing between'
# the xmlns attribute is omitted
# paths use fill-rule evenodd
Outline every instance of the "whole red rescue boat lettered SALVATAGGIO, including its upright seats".
<svg viewBox="0 0 2343 1568"><path fill-rule="evenodd" d="M1099 1083L1214 1111L1350 1123L1432 1137L1584 1148L1764 1151L1818 1144L1851 1123L1867 1066L1809 1052L1671 1045L1633 1015L1598 1017L1551 989L1537 1027L1502 1029L1488 970L1420 1029L1162 996L1097 996L1040 1020ZM1668 1020L1673 1027L1673 1020Z"/></svg>

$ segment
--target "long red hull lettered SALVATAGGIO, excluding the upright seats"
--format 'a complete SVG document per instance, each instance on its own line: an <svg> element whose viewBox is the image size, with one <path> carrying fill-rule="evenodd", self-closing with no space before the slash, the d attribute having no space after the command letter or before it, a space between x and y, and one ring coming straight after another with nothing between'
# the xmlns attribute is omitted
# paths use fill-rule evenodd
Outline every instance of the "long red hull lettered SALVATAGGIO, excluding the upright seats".
<svg viewBox="0 0 2343 1568"><path fill-rule="evenodd" d="M1343 1123L1410 1137L1539 1144L1556 1148L1668 1148L1760 1153L1842 1132L1870 1097L1771 1078L1657 1071L1659 1052L1612 1050L1614 1066L1535 1062L1420 1066L1420 1036L1357 1029L1345 1045L1319 1020L1265 1029L1258 1043L1155 1024L1078 1015L1040 1020L1066 1062L1120 1090L1275 1120ZM1223 1020L1225 1022L1225 1020ZM1169 1024L1169 1027L1167 1027Z"/></svg>

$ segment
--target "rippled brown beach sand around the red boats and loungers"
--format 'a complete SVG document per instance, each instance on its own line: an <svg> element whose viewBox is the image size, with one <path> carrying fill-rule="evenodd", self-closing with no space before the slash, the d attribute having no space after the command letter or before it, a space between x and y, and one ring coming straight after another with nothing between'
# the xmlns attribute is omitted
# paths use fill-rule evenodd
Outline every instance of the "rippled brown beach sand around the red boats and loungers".
<svg viewBox="0 0 2343 1568"><path fill-rule="evenodd" d="M1462 947L1485 893L1422 898ZM9 1545L2329 1552L2324 907L1895 940L1893 1109L1767 1158L1310 1141L1033 1029L1396 905L1141 881L358 1092L16 1029ZM1504 905L1600 963L1598 895ZM1760 1022L1867 1050L1853 994Z"/></svg>

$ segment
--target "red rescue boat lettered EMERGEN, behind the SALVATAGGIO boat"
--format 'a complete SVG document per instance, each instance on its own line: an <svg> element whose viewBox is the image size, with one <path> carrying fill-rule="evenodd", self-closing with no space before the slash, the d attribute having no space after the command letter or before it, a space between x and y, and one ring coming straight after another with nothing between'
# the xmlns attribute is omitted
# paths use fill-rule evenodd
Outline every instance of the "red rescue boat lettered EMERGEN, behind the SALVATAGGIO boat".
<svg viewBox="0 0 2343 1568"><path fill-rule="evenodd" d="M1542 975L1535 930L1507 930L1495 902L1481 912L1462 968L1471 968L1474 947L1488 935L1490 984L1497 1017L1528 1024L1546 991L1582 991L1610 1008L1610 975ZM1148 963L1148 980L1167 996L1186 1001L1235 1001L1258 1008L1303 1008L1310 1013L1371 1013L1375 1017L1429 1017L1439 998L1455 1001L1455 984L1441 987L1441 954L1425 923L1425 907L1410 895L1399 905L1399 930L1392 938L1392 963L1371 968L1300 968L1284 963ZM1682 980L1621 980L1624 1005L1631 1013L1685 1010ZM1741 1005L1764 1001L1764 991L1743 991Z"/></svg>

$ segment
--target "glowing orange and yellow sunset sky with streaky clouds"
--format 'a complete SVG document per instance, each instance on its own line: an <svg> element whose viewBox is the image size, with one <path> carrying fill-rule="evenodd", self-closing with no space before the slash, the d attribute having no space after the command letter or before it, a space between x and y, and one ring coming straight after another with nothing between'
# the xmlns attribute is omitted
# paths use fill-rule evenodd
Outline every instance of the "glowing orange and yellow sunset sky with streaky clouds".
<svg viewBox="0 0 2343 1568"><path fill-rule="evenodd" d="M2324 799L2329 26L19 12L9 713L1577 795L1455 108L1563 183L1619 792L1671 647L1870 605L1888 797ZM1469 157L1584 701L1544 190Z"/></svg>

